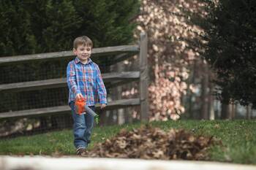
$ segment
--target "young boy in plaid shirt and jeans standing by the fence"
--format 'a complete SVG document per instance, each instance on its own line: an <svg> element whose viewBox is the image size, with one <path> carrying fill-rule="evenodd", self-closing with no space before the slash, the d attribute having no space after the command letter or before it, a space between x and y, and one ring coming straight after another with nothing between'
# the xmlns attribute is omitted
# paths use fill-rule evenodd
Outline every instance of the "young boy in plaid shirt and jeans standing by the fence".
<svg viewBox="0 0 256 170"><path fill-rule="evenodd" d="M75 100L83 98L86 105L95 110L94 105L99 101L101 109L106 107L107 93L99 66L91 61L91 39L80 36L74 40L73 52L76 58L67 66L67 85L69 88L69 107L74 120L74 144L78 155L86 154L90 143L94 117L90 114L79 115L75 112ZM99 98L99 100L98 100Z"/></svg>

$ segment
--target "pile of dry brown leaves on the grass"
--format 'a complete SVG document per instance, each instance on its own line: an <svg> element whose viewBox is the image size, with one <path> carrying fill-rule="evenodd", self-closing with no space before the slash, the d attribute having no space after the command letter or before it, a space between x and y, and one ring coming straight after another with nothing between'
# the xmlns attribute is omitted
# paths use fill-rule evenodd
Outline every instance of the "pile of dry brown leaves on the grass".
<svg viewBox="0 0 256 170"><path fill-rule="evenodd" d="M194 136L181 130L163 131L143 126L132 131L121 130L112 139L97 144L88 157L207 160L206 150L213 137Z"/></svg>

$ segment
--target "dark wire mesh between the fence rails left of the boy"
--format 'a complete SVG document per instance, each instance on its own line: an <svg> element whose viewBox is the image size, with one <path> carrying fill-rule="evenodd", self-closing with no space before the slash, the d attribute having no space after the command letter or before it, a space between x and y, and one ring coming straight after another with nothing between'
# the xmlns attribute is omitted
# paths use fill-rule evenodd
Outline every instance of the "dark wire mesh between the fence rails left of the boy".
<svg viewBox="0 0 256 170"><path fill-rule="evenodd" d="M66 66L70 59L53 61L34 61L8 63L0 67L0 85L3 87L17 83L48 80L66 77ZM38 88L24 90L10 88L0 90L0 114L29 109L67 105L68 89ZM39 134L61 128L72 127L72 117L66 115L47 115L39 117L10 117L0 120L0 139L14 136Z"/></svg>

